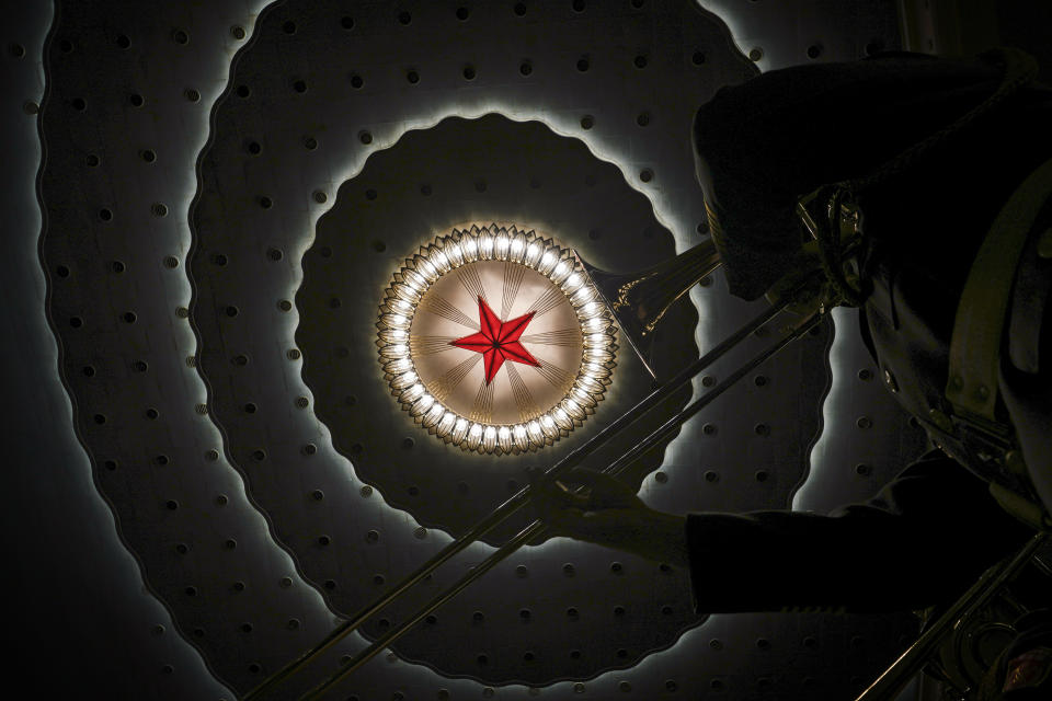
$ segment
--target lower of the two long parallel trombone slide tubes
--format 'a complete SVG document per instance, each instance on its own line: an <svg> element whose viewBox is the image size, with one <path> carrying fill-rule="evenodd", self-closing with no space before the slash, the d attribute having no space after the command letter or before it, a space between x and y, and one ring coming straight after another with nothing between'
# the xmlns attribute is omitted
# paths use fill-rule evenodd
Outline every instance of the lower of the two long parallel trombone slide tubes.
<svg viewBox="0 0 1052 701"><path fill-rule="evenodd" d="M702 397L696 399L694 402L688 404L686 407L681 410L675 416L666 421L664 424L659 426L656 429L651 432L643 438L640 443L633 446L630 450L624 453L620 458L615 460L613 463L607 466L606 469L602 472L606 474L617 475L622 470L625 470L632 460L638 458L640 455L645 452L648 449L653 447L659 440L668 435L672 430L677 428L679 425L685 423L687 420L697 414L701 409L711 403L716 398L727 391L728 388L735 384L739 380L745 377L758 365L770 358L773 355L785 348L792 341L799 338L804 333L810 331L824 318L824 313L814 312L811 317L808 317L805 320L800 322L793 330L778 338L778 341L767 348L756 354L751 358L745 365L732 372L725 380L719 382L711 390L706 392ZM699 370L700 371L700 370ZM551 479L554 476L556 468L561 464L557 463L556 467L551 468L545 473L542 479ZM321 682L305 696L300 697L300 701L313 701L315 699L320 698L322 693L331 689L333 686L343 680L347 675L352 674L354 670L358 669L367 663L369 659L375 657L379 652L386 647L391 642L398 640L404 635L409 630L422 621L428 613L444 605L446 601L449 601L457 594L462 591L470 585L472 582L481 577L483 574L492 570L498 563L505 560L508 555L518 550L522 545L526 544L538 533L545 530L545 526L540 520L535 520L533 524L521 530L514 538L508 540L506 543L501 545L496 551L493 552L489 558L483 560L480 564L476 565L469 570L462 577L460 577L451 587L445 591L438 594L431 601L428 601L424 607L419 610L412 618L403 622L401 625L393 628L388 631L386 634L375 640L368 647L359 652L352 659L350 659L339 671L333 674L329 679Z"/></svg>

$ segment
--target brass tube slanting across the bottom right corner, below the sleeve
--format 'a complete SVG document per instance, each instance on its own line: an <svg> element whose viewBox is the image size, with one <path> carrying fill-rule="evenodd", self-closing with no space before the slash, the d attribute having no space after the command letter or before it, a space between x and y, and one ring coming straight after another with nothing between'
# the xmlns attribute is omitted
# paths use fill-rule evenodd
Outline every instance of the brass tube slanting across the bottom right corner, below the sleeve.
<svg viewBox="0 0 1052 701"><path fill-rule="evenodd" d="M927 659L935 653L942 642L942 636L957 628L959 620L971 617L976 609L990 601L991 598L1033 556L1033 553L1044 542L1048 533L1041 532L1031 538L1013 558L1006 558L997 565L987 570L959 598L953 606L946 610L921 637L911 645L899 659L893 662L873 683L869 686L855 701L890 701L902 687L924 667Z"/></svg>

